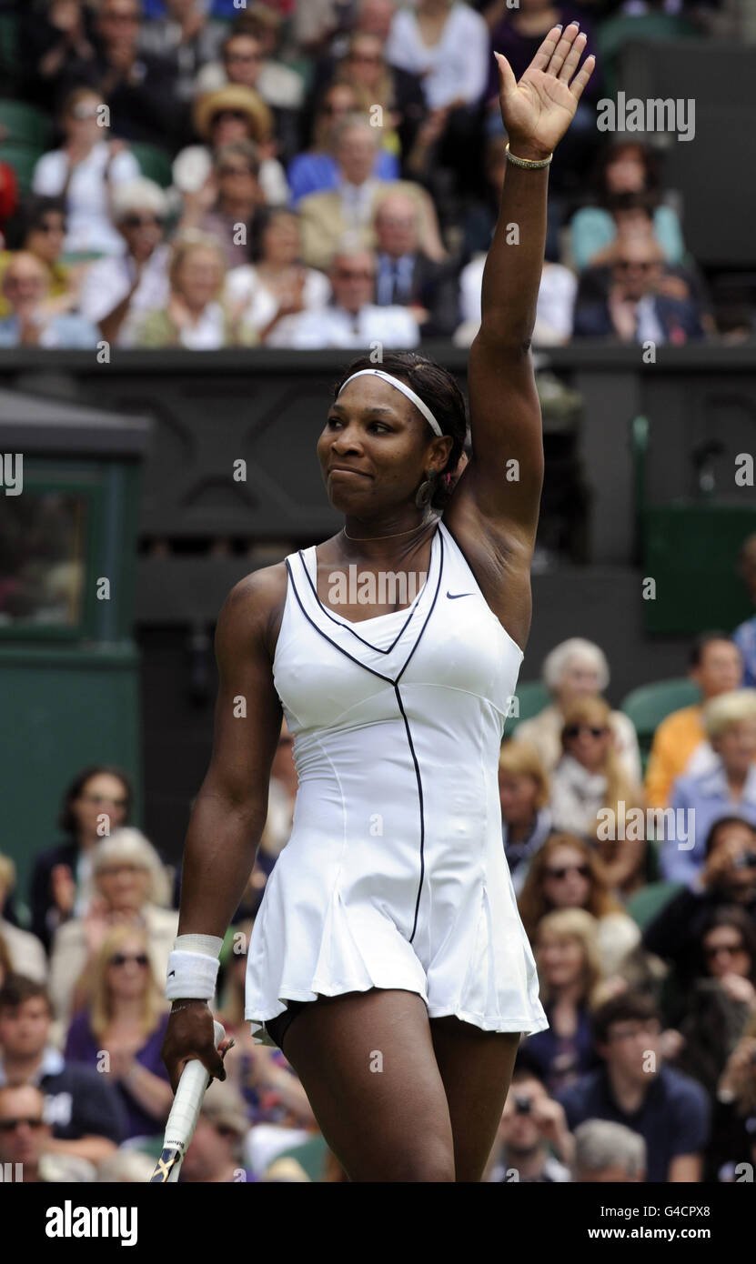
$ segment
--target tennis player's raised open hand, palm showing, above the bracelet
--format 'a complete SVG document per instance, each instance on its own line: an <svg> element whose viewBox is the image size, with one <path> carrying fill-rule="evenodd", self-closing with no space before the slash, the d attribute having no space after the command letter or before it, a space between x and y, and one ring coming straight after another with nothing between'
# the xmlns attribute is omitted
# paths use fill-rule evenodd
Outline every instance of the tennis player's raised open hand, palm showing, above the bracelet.
<svg viewBox="0 0 756 1264"><path fill-rule="evenodd" d="M502 119L517 158L547 158L573 121L595 66L592 53L578 71L585 39L576 21L564 30L552 27L520 82L507 58L496 54Z"/></svg>

